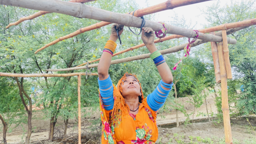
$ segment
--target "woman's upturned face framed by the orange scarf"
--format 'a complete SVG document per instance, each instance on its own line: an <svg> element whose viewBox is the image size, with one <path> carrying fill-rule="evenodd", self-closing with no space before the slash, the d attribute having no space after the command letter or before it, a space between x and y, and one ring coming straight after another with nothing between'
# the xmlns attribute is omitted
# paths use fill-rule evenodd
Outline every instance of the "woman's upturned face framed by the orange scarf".
<svg viewBox="0 0 256 144"><path fill-rule="evenodd" d="M122 96L125 98L127 96L139 96L140 93L140 84L136 78L133 76L127 76L124 80L124 84L121 85L123 92Z"/></svg>

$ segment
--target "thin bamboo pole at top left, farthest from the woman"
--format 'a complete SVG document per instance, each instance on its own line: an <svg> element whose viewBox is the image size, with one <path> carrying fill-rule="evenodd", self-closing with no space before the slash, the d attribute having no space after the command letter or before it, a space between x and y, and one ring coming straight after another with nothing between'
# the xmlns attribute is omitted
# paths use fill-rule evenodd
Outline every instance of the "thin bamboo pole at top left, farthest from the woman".
<svg viewBox="0 0 256 144"><path fill-rule="evenodd" d="M86 3L86 2L91 2L91 1L95 1L95 0L71 0L69 2ZM11 26L18 25L18 24L20 24L20 23L22 23L22 22L24 22L26 20L32 20L32 19L37 18L37 17L39 17L41 15L45 15L47 13L51 13L51 12L39 11L39 12L37 12L35 14L29 15L29 16L26 16L26 17L22 17L22 18L20 18L18 21L14 22L14 23L9 23L9 25L6 26L5 28L8 29Z"/></svg>

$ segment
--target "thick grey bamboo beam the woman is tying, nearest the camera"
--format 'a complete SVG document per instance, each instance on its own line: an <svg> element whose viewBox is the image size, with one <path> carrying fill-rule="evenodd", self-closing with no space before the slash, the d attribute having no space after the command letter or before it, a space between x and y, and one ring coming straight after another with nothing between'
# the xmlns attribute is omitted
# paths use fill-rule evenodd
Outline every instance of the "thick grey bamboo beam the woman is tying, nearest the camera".
<svg viewBox="0 0 256 144"><path fill-rule="evenodd" d="M142 19L132 16L130 14L119 14L115 12L110 12L107 10L99 9L96 7L84 5L81 3L71 3L65 1L53 1L53 0L0 0L0 4L2 5L11 5L17 7L23 7L34 10L44 10L49 12L56 12L66 15L71 15L78 18L89 18L94 20L118 23L125 26L130 27L141 27ZM153 22L150 20L145 20L144 27L150 27L154 31L159 31L163 28L163 24L158 22ZM180 28L172 25L166 25L167 33L169 34L177 34L182 35L188 38L194 38L196 36L196 32L192 29ZM222 37L208 35L199 32L199 39L205 41L214 41L221 42ZM235 44L236 40L233 40Z"/></svg>

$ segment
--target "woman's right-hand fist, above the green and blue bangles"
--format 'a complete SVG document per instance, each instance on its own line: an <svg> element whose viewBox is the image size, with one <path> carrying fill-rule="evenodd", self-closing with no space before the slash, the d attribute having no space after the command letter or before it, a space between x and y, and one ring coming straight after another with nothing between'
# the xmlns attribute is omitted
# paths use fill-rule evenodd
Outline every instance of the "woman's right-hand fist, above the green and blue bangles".
<svg viewBox="0 0 256 144"><path fill-rule="evenodd" d="M150 45L155 45L154 40L155 40L155 33L150 27L145 27L142 28L142 34L141 34L141 39L143 43L146 45L146 47Z"/></svg>

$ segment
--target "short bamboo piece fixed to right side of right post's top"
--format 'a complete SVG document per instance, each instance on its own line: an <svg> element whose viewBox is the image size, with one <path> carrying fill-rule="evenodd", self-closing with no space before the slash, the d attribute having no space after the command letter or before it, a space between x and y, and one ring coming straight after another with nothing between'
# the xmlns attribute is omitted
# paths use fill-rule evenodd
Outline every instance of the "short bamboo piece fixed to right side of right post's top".
<svg viewBox="0 0 256 144"><path fill-rule="evenodd" d="M232 79L232 71L231 71L231 65L229 61L229 50L228 50L228 42L227 42L227 31L222 31L222 39L223 39L223 53L224 53L224 60L226 65L226 72L227 72L227 78Z"/></svg>

